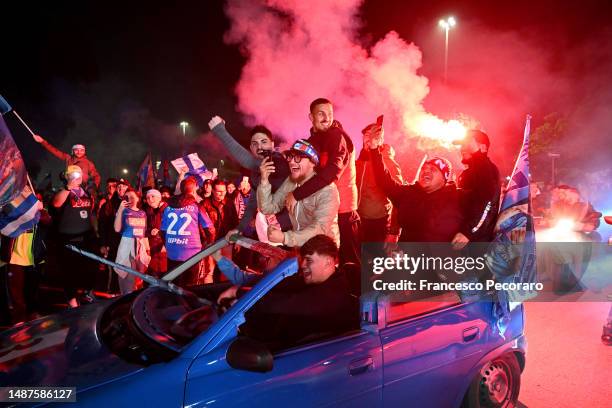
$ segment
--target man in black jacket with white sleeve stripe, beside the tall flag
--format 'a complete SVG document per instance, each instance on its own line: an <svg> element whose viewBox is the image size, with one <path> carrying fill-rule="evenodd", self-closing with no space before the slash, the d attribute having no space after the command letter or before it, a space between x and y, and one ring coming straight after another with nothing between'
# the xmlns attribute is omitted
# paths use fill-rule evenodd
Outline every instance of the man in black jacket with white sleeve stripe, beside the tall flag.
<svg viewBox="0 0 612 408"><path fill-rule="evenodd" d="M462 249L468 242L493 239L501 184L499 170L488 157L490 141L486 133L469 130L458 143L461 162L467 166L458 180L464 220L452 242L455 249Z"/></svg>

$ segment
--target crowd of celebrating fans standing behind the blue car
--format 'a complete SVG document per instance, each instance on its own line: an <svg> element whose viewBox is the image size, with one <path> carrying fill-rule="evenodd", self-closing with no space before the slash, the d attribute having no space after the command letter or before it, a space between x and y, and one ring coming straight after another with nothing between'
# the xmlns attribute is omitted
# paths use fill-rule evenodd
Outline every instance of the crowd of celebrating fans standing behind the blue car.
<svg viewBox="0 0 612 408"><path fill-rule="evenodd" d="M109 274L106 266L67 244L161 277L202 248L237 233L296 253L307 243L314 245L313 239L332 242L338 249L332 257L336 266L354 265L357 270L363 242L449 242L459 250L469 242L493 238L502 186L488 157L487 134L470 130L459 142L466 167L460 174L454 174L448 158L433 157L422 164L415 181L408 182L393 147L385 143L381 122L364 127L363 149L357 155L330 100L314 100L308 115L310 137L284 152L265 126L250 131L247 149L222 118L211 118L212 135L250 171L236 183L181 174L174 190L137 190L124 179L108 178L100 197L100 175L85 146L76 144L67 154L34 136L65 162L64 187L40 209L34 230L3 238L6 320L14 324L36 316L40 269L47 259L61 270L70 307L95 301L94 289L126 294L142 285L120 268ZM56 245L45 254L45 242L51 241ZM261 269L266 261L228 246L190 267L175 283L227 279L223 259L233 260L240 270Z"/></svg>

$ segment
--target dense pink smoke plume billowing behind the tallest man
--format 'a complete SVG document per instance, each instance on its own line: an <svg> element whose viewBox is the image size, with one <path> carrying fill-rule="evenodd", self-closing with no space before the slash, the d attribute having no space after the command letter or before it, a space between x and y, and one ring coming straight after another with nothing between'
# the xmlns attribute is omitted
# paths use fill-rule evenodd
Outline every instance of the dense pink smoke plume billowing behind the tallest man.
<svg viewBox="0 0 612 408"><path fill-rule="evenodd" d="M384 113L387 139L414 136L425 112L428 80L419 48L391 31L370 48L359 44L360 0L231 0L229 43L247 56L236 86L249 124L264 123L287 140L308 134L308 105L334 102L335 116L357 145L361 129Z"/></svg>

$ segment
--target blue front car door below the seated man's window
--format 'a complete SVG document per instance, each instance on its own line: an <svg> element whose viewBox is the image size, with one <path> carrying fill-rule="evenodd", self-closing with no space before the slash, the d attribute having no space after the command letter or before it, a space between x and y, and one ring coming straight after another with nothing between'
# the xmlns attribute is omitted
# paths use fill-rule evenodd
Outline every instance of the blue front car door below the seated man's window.
<svg viewBox="0 0 612 408"><path fill-rule="evenodd" d="M187 376L189 407L317 407L382 405L382 350L365 330L296 347L274 356L274 368L255 373L230 367L229 343L199 356Z"/></svg>

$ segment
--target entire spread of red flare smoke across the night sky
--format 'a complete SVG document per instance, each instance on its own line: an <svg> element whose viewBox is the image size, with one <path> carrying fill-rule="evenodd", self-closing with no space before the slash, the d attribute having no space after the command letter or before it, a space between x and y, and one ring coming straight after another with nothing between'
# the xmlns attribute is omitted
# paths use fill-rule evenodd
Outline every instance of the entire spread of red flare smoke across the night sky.
<svg viewBox="0 0 612 408"><path fill-rule="evenodd" d="M444 85L444 35L437 20L420 26L414 35L419 46L402 38L401 26L365 46L359 37L361 5L361 0L228 0L226 41L239 44L247 57L236 93L249 124L266 124L289 141L307 136L308 104L327 97L357 146L361 129L384 114L386 139L412 171L422 156L414 153L417 147L457 163L458 155L431 151L427 139L417 136L423 121L440 128L434 123L438 116L460 119L490 135L491 156L508 174L526 113L536 128L546 114L571 115L581 101L588 102L586 87L576 85L584 77L571 71L581 69L578 62L588 61L590 52L571 50L571 43L560 56L537 34L486 28L458 16ZM609 49L603 54L609 67ZM602 78L591 78L589 88L607 84Z"/></svg>

